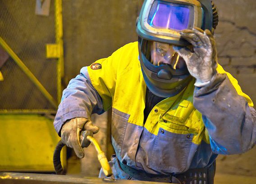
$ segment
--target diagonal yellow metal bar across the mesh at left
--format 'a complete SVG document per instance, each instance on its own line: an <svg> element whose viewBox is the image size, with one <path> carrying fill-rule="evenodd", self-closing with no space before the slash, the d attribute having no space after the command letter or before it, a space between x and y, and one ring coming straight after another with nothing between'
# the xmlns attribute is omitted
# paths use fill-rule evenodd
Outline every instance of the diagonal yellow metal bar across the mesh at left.
<svg viewBox="0 0 256 184"><path fill-rule="evenodd" d="M50 103L58 108L58 104L55 99L48 93L45 87L37 80L37 78L30 72L26 65L21 61L21 59L14 53L14 51L5 43L5 41L0 37L0 45L5 49L5 51L14 59L18 66L25 72L25 74L30 78L30 80L37 86L37 88L42 92L42 94L50 101Z"/></svg>

